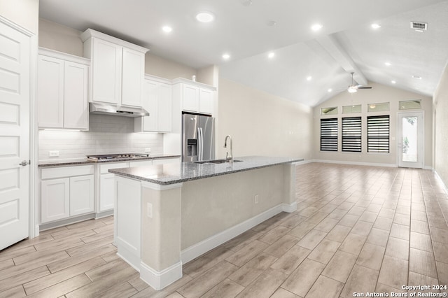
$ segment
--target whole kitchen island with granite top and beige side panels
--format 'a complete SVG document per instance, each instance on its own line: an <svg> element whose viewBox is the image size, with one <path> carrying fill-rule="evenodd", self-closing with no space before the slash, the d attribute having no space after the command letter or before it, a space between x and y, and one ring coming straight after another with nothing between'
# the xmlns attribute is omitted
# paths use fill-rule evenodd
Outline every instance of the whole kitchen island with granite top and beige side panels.
<svg viewBox="0 0 448 298"><path fill-rule="evenodd" d="M239 157L233 164L109 170L116 174L118 255L153 288L165 288L182 277L182 264L282 211L295 211L295 164L301 161Z"/></svg>

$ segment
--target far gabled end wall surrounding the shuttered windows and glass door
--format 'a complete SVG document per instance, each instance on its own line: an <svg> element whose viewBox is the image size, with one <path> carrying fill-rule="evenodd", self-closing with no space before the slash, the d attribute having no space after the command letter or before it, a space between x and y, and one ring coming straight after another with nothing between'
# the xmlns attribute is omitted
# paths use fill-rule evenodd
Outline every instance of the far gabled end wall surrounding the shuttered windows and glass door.
<svg viewBox="0 0 448 298"><path fill-rule="evenodd" d="M377 83L369 83L372 86L372 90L358 90L354 94L349 92L341 92L335 97L328 99L323 104L320 104L314 108L314 159L328 160L337 162L352 162L352 163L365 163L365 164L384 164L395 166L398 163L397 153L397 115L398 115L398 102L421 99L422 110L424 111L425 118L425 158L424 166L426 168L432 168L433 166L433 115L432 115L432 100L430 97L424 97L414 92L407 92L394 87L388 87L386 85L380 85ZM376 104L382 102L390 103L389 112L377 112L367 113L367 104ZM344 114L342 115L342 106L351 106L356 104L362 104L362 113L358 114ZM363 152L341 152L341 128L339 127L339 152L321 152L320 150L320 121L321 121L321 108L328 108L337 106L339 110L338 115L325 116L326 118L342 118L342 117L355 117L361 116L363 118L362 127L362 139L363 139ZM407 110L415 111L415 110ZM403 111L404 112L404 111ZM367 153L367 146L365 141L367 140L367 127L366 118L368 115L390 115L390 152L388 154L375 154ZM325 118L323 117L323 118ZM340 122L339 122L340 123Z"/></svg>

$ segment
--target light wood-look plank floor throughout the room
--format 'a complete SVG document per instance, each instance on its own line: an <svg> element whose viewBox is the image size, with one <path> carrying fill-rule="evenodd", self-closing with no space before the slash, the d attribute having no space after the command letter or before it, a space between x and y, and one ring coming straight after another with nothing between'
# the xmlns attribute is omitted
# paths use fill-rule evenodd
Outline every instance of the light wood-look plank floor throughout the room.
<svg viewBox="0 0 448 298"><path fill-rule="evenodd" d="M353 297L448 284L448 196L431 171L305 164L297 202L160 292L116 256L113 218L52 229L0 252L0 297Z"/></svg>

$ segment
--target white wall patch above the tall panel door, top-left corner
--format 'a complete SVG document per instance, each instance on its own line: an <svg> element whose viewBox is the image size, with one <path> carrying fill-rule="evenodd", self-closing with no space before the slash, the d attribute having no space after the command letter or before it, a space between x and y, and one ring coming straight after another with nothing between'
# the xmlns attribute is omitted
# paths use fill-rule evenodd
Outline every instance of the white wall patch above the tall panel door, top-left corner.
<svg viewBox="0 0 448 298"><path fill-rule="evenodd" d="M0 0L0 15L37 34L38 0Z"/></svg>

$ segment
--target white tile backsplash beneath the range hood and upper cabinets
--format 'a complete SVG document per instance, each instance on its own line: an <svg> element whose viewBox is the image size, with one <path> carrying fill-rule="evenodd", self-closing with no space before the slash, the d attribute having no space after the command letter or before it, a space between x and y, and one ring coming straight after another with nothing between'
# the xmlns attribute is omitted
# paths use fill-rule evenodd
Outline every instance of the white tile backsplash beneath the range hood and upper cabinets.
<svg viewBox="0 0 448 298"><path fill-rule="evenodd" d="M163 134L134 132L134 118L90 114L89 131L39 130L38 159L85 158L85 155L109 153L163 153ZM59 157L49 157L59 151Z"/></svg>

